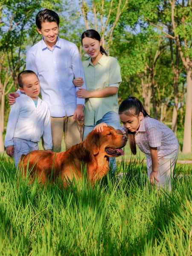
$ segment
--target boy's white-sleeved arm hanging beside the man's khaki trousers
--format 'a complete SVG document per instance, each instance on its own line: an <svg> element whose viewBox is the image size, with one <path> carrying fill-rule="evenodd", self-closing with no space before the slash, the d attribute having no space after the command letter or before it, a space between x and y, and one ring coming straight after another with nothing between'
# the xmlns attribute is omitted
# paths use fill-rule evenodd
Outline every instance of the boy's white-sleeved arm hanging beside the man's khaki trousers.
<svg viewBox="0 0 192 256"><path fill-rule="evenodd" d="M44 120L44 148L45 150L52 149L52 135L51 135L51 119L50 119L50 113L47 106L47 115ZM49 150L50 151L50 150Z"/></svg>

